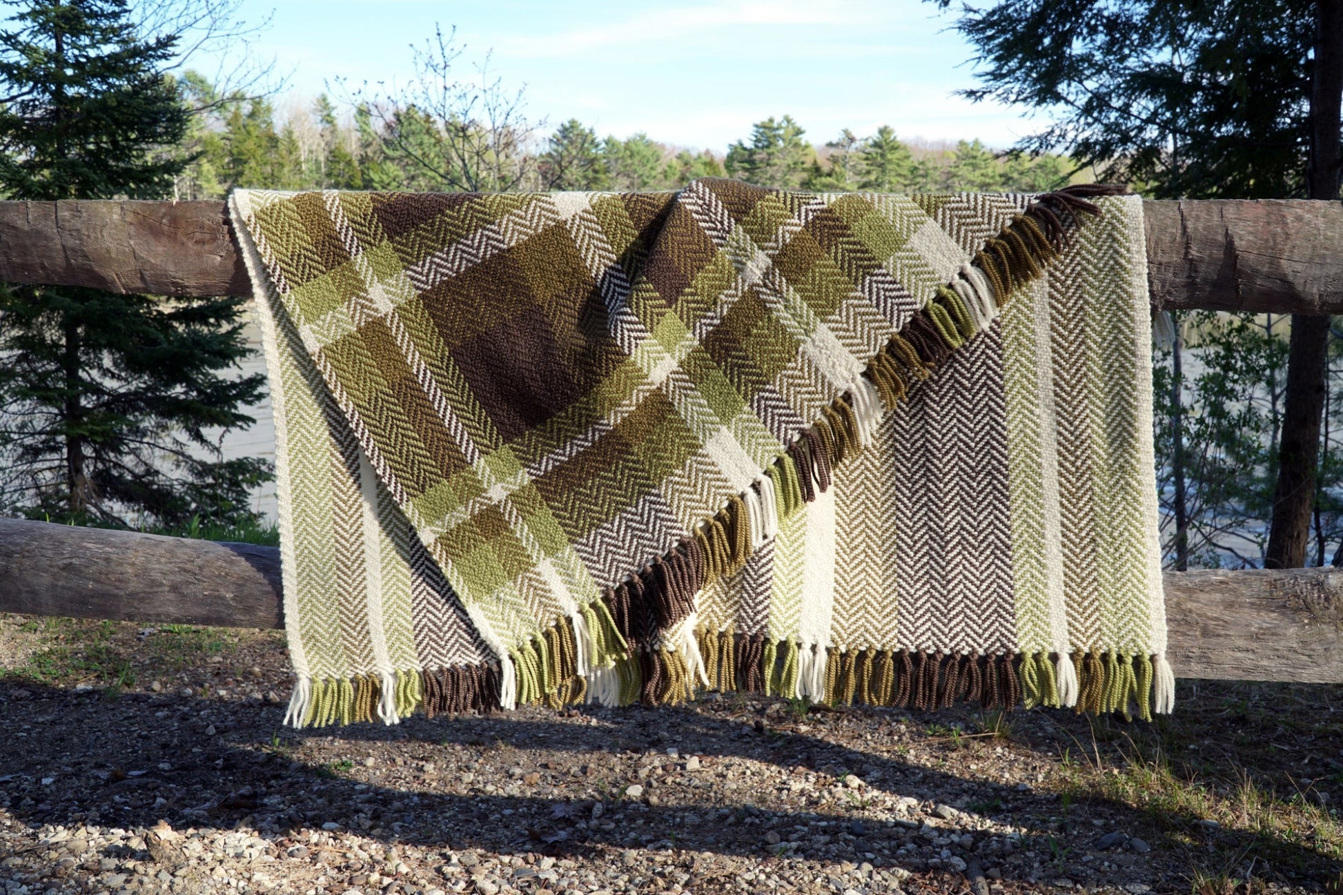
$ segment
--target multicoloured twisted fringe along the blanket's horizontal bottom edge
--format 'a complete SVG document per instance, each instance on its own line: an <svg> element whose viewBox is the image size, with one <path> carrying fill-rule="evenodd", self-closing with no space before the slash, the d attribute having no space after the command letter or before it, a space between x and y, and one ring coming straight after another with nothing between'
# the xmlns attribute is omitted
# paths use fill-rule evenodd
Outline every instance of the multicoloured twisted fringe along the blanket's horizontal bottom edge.
<svg viewBox="0 0 1343 895"><path fill-rule="evenodd" d="M1073 669L1078 712L1121 712L1129 718L1136 710L1139 718L1151 720L1154 714L1174 708L1175 677L1160 654L1074 650L1072 656L974 656L872 648L841 652L731 629L688 626L673 644L641 648L580 676L575 644L565 630L556 625L514 650L520 693L528 699L551 707L582 701L663 706L690 701L706 688L932 711L960 701L984 708L1060 707L1066 706L1064 669ZM285 723L325 727L377 715L395 724L418 708L428 718L493 711L500 707L500 676L498 665L486 664L355 679L304 677L294 687Z"/></svg>

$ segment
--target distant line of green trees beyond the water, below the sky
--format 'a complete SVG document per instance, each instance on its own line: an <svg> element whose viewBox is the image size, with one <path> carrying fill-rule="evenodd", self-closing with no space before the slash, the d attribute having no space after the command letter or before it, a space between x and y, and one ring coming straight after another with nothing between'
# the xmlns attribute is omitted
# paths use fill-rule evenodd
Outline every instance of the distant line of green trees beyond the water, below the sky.
<svg viewBox="0 0 1343 895"><path fill-rule="evenodd" d="M790 116L755 124L716 153L645 133L599 137L576 118L547 133L516 114L490 122L387 97L337 105L324 94L277 112L265 98L218 97L196 75L183 87L207 112L192 120L185 149L195 160L177 177L180 199L220 198L232 187L676 189L706 176L815 191L1037 192L1068 183L1073 171L1062 156L995 153L979 140L911 145L889 126L814 145Z"/></svg>

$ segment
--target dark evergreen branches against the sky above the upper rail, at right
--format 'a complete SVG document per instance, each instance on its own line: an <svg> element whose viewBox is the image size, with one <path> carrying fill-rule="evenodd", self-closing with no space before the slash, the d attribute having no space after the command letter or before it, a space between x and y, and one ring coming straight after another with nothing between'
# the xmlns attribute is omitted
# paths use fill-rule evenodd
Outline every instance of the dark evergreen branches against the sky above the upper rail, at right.
<svg viewBox="0 0 1343 895"><path fill-rule="evenodd" d="M967 5L956 28L983 85L966 95L1049 112L1022 148L1066 148L1158 198L1301 194L1307 0L1014 0Z"/></svg>

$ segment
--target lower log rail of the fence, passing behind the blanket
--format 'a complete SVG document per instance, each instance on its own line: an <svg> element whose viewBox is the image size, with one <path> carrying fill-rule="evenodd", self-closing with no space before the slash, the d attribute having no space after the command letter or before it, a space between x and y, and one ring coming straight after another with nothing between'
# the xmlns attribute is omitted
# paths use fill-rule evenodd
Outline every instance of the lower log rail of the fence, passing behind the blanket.
<svg viewBox="0 0 1343 895"><path fill-rule="evenodd" d="M282 628L279 551L0 519L0 611ZM1167 572L1179 677L1343 683L1343 570Z"/></svg>

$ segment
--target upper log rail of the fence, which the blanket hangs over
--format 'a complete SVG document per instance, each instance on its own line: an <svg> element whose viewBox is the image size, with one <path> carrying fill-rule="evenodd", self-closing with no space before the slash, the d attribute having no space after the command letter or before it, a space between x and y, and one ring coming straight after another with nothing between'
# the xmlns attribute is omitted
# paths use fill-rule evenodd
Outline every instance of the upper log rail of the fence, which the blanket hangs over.
<svg viewBox="0 0 1343 895"><path fill-rule="evenodd" d="M1146 202L1158 308L1343 313L1343 204ZM222 202L0 202L0 281L248 296Z"/></svg>

